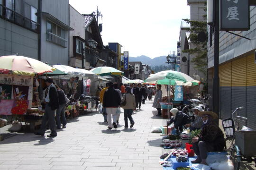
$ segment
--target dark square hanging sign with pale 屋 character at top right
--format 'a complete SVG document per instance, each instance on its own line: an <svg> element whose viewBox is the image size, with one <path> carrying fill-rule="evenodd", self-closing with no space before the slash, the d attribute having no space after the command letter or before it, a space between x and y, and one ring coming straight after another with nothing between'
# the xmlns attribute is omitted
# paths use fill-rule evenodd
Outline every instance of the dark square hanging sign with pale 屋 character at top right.
<svg viewBox="0 0 256 170"><path fill-rule="evenodd" d="M247 31L250 29L248 0L220 0L220 31Z"/></svg>

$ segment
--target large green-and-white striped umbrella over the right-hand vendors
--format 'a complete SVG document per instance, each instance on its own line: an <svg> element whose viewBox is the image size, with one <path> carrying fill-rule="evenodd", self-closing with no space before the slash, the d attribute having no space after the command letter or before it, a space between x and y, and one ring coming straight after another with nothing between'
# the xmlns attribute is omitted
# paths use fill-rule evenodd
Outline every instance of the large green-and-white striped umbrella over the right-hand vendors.
<svg viewBox="0 0 256 170"><path fill-rule="evenodd" d="M200 82L192 77L178 71L167 70L155 73L145 80L146 83L159 85L198 85Z"/></svg>

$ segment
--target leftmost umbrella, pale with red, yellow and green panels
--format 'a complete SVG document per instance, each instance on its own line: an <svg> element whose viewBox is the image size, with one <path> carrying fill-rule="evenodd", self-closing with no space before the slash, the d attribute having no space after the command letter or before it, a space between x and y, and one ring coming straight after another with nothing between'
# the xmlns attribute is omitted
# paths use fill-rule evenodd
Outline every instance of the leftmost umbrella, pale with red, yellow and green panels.
<svg viewBox="0 0 256 170"><path fill-rule="evenodd" d="M47 64L24 56L11 55L0 57L0 73L16 74L22 76L42 75L46 72L53 72L55 68Z"/></svg>

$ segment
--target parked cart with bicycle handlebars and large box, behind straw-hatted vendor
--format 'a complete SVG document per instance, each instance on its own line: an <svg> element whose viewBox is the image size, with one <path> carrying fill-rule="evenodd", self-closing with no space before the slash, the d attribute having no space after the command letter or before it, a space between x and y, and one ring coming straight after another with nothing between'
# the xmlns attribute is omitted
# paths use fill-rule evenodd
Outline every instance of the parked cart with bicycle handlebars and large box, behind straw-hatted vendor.
<svg viewBox="0 0 256 170"><path fill-rule="evenodd" d="M230 144L227 151L235 170L239 170L241 161L251 162L254 158L256 163L256 130L245 126L241 128L239 125L239 121L246 122L247 120L237 114L237 111L243 108L237 108L233 111L231 118L222 120L222 126L227 136L226 143Z"/></svg>

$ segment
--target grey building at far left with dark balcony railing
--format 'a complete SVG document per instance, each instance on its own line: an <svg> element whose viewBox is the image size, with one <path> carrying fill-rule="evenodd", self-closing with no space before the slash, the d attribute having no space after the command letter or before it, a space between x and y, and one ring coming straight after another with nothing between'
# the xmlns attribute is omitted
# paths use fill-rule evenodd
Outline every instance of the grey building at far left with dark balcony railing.
<svg viewBox="0 0 256 170"><path fill-rule="evenodd" d="M0 56L38 59L37 0L0 0Z"/></svg>

